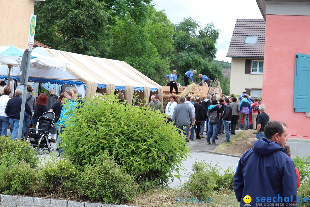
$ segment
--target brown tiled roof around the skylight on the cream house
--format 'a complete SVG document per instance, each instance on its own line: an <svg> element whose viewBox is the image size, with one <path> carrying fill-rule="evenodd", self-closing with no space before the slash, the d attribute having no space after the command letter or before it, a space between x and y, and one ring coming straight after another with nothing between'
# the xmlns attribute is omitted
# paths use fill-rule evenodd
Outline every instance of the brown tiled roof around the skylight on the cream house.
<svg viewBox="0 0 310 207"><path fill-rule="evenodd" d="M244 44L246 36L258 36L257 44ZM226 57L263 58L265 20L237 19Z"/></svg>

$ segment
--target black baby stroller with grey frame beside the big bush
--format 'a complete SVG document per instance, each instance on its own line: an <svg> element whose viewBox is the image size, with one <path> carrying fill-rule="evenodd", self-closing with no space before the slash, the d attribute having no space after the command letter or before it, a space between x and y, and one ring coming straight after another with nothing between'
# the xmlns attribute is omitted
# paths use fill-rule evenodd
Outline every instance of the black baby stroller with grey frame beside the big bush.
<svg viewBox="0 0 310 207"><path fill-rule="evenodd" d="M33 147L39 147L39 154L42 155L44 150L48 150L49 153L54 151L51 144L51 137L48 137L52 126L55 122L55 113L47 111L43 113L37 124L37 128L30 128L26 142L30 142Z"/></svg>

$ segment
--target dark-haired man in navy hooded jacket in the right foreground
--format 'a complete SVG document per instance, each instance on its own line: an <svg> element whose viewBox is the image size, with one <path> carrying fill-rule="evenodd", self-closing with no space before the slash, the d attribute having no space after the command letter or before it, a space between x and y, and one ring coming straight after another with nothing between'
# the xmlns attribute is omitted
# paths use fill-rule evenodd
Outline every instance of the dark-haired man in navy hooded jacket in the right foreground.
<svg viewBox="0 0 310 207"><path fill-rule="evenodd" d="M269 121L265 138L242 155L233 181L240 206L297 205L297 176L292 159L284 153L286 141L286 124Z"/></svg>

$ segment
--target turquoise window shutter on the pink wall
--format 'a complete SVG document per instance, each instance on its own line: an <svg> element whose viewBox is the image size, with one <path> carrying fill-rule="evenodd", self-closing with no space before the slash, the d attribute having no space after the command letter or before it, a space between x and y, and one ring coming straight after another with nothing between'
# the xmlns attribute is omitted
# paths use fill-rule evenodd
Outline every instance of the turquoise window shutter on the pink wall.
<svg viewBox="0 0 310 207"><path fill-rule="evenodd" d="M310 55L295 55L293 111L310 112Z"/></svg>

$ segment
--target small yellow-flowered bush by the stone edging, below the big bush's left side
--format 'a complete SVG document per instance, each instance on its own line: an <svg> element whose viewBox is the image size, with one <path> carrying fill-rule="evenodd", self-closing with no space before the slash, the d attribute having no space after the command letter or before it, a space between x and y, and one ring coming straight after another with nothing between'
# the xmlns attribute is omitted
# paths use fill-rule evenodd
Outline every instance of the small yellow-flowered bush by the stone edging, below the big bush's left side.
<svg viewBox="0 0 310 207"><path fill-rule="evenodd" d="M40 168L41 192L54 195L76 196L79 167L68 159L50 157Z"/></svg>

